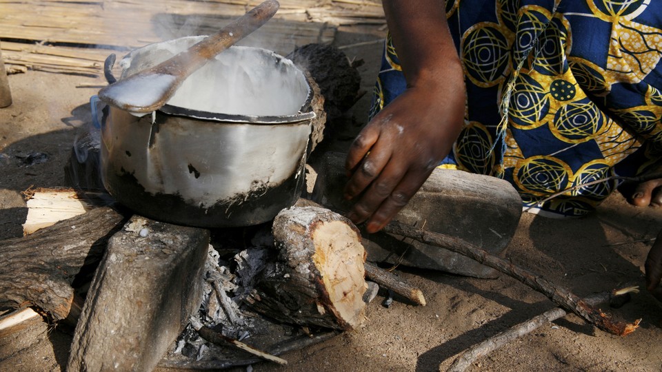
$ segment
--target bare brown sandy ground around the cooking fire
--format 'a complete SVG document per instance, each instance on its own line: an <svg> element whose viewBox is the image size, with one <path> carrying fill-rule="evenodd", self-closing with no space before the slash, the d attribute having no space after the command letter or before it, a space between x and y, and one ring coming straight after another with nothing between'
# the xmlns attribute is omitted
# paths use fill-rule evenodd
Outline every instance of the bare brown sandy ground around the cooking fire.
<svg viewBox="0 0 662 372"><path fill-rule="evenodd" d="M379 32L371 32L349 32L337 43L374 40ZM372 85L380 48L345 50L366 61L364 89ZM81 83L102 81L34 71L10 76L14 104L0 109L0 239L21 236L27 213L23 190L64 185L74 134L90 120L87 101L98 90L77 87ZM363 99L354 109L357 120L365 121L365 110ZM661 227L661 210L632 207L616 194L577 220L524 215L505 257L586 296L624 282L643 285L643 262ZM445 370L473 344L554 307L504 276L478 280L404 267L397 273L423 290L427 306L396 299L386 308L380 292L368 307L365 329L284 355L286 367L257 364L253 371ZM629 321L641 318L641 327L621 338L566 316L477 360L470 370L662 371L660 304L643 292L610 313ZM70 331L39 322L20 338L0 339L0 371L63 369Z"/></svg>

